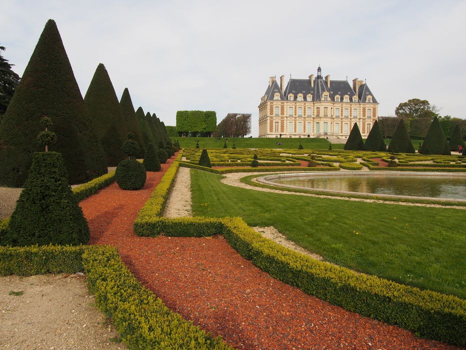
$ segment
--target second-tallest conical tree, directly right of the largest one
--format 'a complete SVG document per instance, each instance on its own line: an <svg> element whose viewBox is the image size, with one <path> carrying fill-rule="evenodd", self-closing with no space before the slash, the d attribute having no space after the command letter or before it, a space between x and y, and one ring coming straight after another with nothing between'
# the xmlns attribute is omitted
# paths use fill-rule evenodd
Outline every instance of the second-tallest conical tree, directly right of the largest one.
<svg viewBox="0 0 466 350"><path fill-rule="evenodd" d="M121 146L126 140L128 128L121 113L115 89L102 63L99 63L95 69L84 96L84 103L105 151L107 165L118 165L126 158Z"/></svg>

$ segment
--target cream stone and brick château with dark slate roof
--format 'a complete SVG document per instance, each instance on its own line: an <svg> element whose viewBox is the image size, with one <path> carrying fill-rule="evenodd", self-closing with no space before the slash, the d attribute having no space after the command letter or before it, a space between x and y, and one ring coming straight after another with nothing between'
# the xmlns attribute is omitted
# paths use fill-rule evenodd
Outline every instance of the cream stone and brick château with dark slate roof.
<svg viewBox="0 0 466 350"><path fill-rule="evenodd" d="M367 136L378 118L376 97L367 83L355 78L330 80L317 76L292 79L284 86L274 76L259 104L259 137L322 137L347 138L355 122Z"/></svg>

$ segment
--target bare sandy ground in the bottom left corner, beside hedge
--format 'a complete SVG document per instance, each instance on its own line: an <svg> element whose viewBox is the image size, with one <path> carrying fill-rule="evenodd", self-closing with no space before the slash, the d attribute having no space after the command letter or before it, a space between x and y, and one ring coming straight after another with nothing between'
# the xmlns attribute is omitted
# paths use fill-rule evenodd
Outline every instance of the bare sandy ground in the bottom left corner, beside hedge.
<svg viewBox="0 0 466 350"><path fill-rule="evenodd" d="M0 277L0 348L125 349L117 339L95 307L85 277Z"/></svg>

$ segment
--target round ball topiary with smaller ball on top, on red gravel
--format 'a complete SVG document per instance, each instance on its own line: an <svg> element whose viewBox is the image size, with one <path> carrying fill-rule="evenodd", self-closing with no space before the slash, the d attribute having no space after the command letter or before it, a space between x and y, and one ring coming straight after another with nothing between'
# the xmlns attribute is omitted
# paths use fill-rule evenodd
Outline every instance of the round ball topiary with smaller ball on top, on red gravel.
<svg viewBox="0 0 466 350"><path fill-rule="evenodd" d="M140 148L136 141L131 140L132 136L131 132L128 133L129 139L122 145L129 159L120 161L115 170L115 181L121 189L139 189L146 182L146 169L136 160Z"/></svg>

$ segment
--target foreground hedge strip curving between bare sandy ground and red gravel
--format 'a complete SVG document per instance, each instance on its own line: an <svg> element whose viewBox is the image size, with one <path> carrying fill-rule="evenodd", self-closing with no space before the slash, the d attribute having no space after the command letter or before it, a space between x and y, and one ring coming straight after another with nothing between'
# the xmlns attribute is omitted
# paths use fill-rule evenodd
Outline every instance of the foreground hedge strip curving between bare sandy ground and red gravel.
<svg viewBox="0 0 466 350"><path fill-rule="evenodd" d="M211 334L170 311L139 283L116 248L99 246L82 255L97 307L109 316L121 339L140 349L231 349Z"/></svg>

